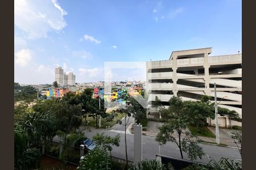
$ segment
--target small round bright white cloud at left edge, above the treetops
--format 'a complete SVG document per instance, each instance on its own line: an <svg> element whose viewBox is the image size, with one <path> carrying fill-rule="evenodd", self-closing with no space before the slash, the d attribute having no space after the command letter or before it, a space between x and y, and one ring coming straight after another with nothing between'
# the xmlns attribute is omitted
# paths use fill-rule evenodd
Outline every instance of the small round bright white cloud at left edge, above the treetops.
<svg viewBox="0 0 256 170"><path fill-rule="evenodd" d="M26 66L27 63L31 60L31 50L30 49L23 49L19 52L15 53L15 63L19 66Z"/></svg>

